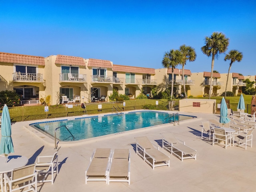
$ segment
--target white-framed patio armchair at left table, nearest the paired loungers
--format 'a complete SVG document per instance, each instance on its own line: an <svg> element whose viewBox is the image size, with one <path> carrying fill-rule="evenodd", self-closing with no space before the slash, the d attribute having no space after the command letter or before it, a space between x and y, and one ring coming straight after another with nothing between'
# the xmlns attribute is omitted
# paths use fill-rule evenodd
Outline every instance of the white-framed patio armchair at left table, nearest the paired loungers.
<svg viewBox="0 0 256 192"><path fill-rule="evenodd" d="M54 183L54 173L56 173L56 176L58 175L58 151L56 151L51 156L38 156L38 163L36 164L36 171L38 172L38 176L42 176L41 180L38 180L39 183L42 182L52 182ZM47 160L50 160L50 162L47 162ZM48 175L51 174L51 179L47 179Z"/></svg>

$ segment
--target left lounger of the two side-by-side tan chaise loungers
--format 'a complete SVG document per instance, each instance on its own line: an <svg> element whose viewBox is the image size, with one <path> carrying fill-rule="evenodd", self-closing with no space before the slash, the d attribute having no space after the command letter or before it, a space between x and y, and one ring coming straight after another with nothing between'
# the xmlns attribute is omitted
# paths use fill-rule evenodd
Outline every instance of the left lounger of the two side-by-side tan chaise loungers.
<svg viewBox="0 0 256 192"><path fill-rule="evenodd" d="M93 151L90 164L85 171L85 183L87 181L106 181L108 183L110 156L111 149L97 148Z"/></svg>

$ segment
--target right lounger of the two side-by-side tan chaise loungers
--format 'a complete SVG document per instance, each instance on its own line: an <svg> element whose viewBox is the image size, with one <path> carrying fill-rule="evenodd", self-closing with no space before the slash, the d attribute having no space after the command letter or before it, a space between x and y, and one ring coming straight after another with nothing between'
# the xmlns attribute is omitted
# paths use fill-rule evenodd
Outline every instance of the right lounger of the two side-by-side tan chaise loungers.
<svg viewBox="0 0 256 192"><path fill-rule="evenodd" d="M115 149L110 159L108 169L109 182L128 182L130 185L130 150Z"/></svg>

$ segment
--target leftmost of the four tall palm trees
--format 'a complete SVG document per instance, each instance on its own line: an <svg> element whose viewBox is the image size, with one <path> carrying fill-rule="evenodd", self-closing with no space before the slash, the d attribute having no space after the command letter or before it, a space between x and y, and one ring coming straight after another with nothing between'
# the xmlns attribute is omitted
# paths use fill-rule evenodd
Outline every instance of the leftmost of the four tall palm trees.
<svg viewBox="0 0 256 192"><path fill-rule="evenodd" d="M162 60L162 65L164 68L172 68L172 91L171 91L171 98L173 95L173 85L174 85L174 68L182 63L183 58L182 54L179 50L170 50L170 52L164 53L164 58Z"/></svg>

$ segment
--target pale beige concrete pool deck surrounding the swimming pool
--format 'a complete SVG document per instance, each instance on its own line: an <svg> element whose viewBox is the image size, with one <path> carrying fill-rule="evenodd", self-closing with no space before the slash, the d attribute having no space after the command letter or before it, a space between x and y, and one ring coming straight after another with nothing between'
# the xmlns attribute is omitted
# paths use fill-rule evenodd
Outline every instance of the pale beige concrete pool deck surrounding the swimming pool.
<svg viewBox="0 0 256 192"><path fill-rule="evenodd" d="M166 111L164 111L166 112ZM176 113L176 112L175 112ZM39 192L215 192L215 191L256 191L256 133L253 136L252 148L247 150L240 146L227 149L201 139L201 121L218 119L218 114L186 113L198 118L184 120L180 125L163 124L151 128L143 128L112 134L96 139L89 139L75 144L58 143L59 174L54 184L39 183ZM45 121L45 120L44 120ZM33 121L34 122L34 121ZM14 154L29 159L29 163L37 162L38 156L54 153L54 140L43 134L36 135L28 127L32 122L17 122L12 125L12 140ZM170 167L152 167L136 155L135 137L147 136L154 144L154 140L161 140L161 134L173 132L177 138L197 150L197 159L186 159L183 162L166 150L160 150L170 156ZM131 184L127 182L90 181L85 184L85 170L90 162L90 156L96 148L128 148L131 152Z"/></svg>

